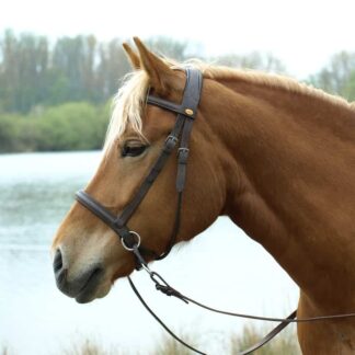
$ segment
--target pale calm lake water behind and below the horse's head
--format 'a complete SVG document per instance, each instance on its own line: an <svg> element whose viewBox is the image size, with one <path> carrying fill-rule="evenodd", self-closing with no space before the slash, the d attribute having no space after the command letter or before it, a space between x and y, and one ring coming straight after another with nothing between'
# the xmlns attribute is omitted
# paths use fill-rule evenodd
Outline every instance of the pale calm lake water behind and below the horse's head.
<svg viewBox="0 0 355 355"><path fill-rule="evenodd" d="M14 354L61 354L92 339L107 350L147 354L161 339L163 330L125 279L88 305L55 286L53 234L99 160L100 152L0 156L0 352L9 344ZM288 275L225 217L151 267L187 296L227 310L284 317L297 306ZM229 334L244 324L158 294L144 272L133 278L157 313L180 333L199 334L208 354L226 353Z"/></svg>

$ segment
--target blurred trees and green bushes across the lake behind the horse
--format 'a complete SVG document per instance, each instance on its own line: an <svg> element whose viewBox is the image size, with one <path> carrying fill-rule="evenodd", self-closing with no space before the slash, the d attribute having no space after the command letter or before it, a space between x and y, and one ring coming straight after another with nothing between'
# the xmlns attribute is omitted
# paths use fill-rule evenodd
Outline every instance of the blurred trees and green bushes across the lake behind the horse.
<svg viewBox="0 0 355 355"><path fill-rule="evenodd" d="M93 35L61 37L0 36L0 152L100 149L110 118L112 95L130 70L123 41L100 42ZM208 62L287 73L271 54L202 56L198 44L153 37L157 53L176 60ZM355 53L342 51L304 81L355 100Z"/></svg>

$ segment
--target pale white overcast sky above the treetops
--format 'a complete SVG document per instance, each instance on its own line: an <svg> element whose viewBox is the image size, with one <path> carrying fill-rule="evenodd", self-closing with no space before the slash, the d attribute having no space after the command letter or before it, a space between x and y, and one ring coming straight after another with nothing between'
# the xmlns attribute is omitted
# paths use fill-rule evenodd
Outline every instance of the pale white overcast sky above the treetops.
<svg viewBox="0 0 355 355"><path fill-rule="evenodd" d="M340 50L355 51L354 0L3 0L0 31L56 38L172 36L201 43L205 55L268 51L305 78Z"/></svg>

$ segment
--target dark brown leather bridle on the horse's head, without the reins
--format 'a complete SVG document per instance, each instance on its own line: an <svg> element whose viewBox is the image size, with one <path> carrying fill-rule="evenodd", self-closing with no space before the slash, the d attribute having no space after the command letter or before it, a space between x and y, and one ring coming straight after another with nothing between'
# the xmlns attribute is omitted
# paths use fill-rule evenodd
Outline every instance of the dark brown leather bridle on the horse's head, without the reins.
<svg viewBox="0 0 355 355"><path fill-rule="evenodd" d="M81 205L87 207L91 213L98 216L102 221L104 221L111 229L113 229L117 233L125 249L127 249L128 251L134 251L137 261L137 268L140 268L142 265L146 265L146 262L144 261L141 255L151 255L154 260L161 260L170 253L172 247L175 243L176 236L180 229L182 194L185 187L186 180L188 141L192 126L197 114L202 83L203 77L201 71L188 68L186 69L186 83L184 89L184 95L180 105L150 94L148 95L147 104L159 106L161 108L176 113L178 117L172 131L165 139L161 153L158 157L156 163L152 165L150 172L139 186L135 196L123 209L121 215L113 215L110 210L107 210L103 205L101 205L98 201L95 201L84 191L79 191L76 194L76 198ZM141 201L147 195L149 188L158 178L163 167L165 165L168 158L171 156L172 151L176 147L179 139L180 146L178 149L176 173L178 204L175 211L175 221L171 231L169 242L165 247L165 251L159 255L157 252L140 245L139 234L136 231L131 231L127 227L127 222L139 206L139 204L141 203ZM135 252L136 249L138 249L138 253Z"/></svg>

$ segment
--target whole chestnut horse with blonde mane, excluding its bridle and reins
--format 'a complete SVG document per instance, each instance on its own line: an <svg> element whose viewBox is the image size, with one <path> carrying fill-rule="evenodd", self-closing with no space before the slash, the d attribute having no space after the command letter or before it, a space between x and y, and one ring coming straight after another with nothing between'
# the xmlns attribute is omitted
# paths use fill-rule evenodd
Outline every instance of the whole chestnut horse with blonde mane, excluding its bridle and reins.
<svg viewBox="0 0 355 355"><path fill-rule="evenodd" d="M124 44L133 72L114 99L102 160L85 192L115 215L124 209L176 119L147 104L148 93L178 104L184 69L198 69L201 101L173 244L228 216L297 283L298 318L354 311L354 104L282 76L175 62L134 42L138 51ZM158 255L174 225L176 170L172 156L128 221ZM78 302L104 297L136 266L116 233L78 202L53 253L58 288ZM297 334L306 355L355 353L354 319L298 323Z"/></svg>

